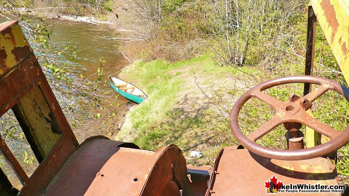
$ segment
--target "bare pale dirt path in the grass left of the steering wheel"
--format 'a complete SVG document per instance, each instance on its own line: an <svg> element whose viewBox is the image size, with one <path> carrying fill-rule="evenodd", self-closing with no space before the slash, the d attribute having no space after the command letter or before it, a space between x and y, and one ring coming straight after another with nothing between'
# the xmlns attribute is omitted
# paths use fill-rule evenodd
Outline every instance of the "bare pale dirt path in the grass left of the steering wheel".
<svg viewBox="0 0 349 196"><path fill-rule="evenodd" d="M179 71L179 70L174 70ZM180 76L181 77L181 76ZM174 107L176 110L183 111L183 115L180 116L182 119L186 118L198 118L207 111L215 111L216 113L221 113L220 108L217 107L217 93L219 92L220 99L223 99L227 102L228 108L230 111L229 105L235 103L238 99L234 97L231 99L231 96L228 95L230 89L244 89L246 86L236 82L236 79L231 77L220 77L216 78L214 76L208 76L205 72L200 74L191 75L185 77L185 90L181 91L177 101L178 104ZM223 112L223 115L226 118L229 118L228 112ZM195 142L191 145L188 145L186 149L182 149L187 152L185 155L187 160L195 163L197 160L190 157L190 151L204 151L212 147L209 133L206 133L201 127L187 130L182 136L182 138L196 138ZM206 141L206 142L200 142ZM189 158L189 159L188 159Z"/></svg>

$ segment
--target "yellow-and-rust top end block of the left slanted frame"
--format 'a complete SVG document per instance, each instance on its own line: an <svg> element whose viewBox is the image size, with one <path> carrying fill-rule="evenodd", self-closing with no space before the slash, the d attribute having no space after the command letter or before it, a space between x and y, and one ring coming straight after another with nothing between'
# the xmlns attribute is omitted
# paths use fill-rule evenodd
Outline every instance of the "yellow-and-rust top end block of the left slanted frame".
<svg viewBox="0 0 349 196"><path fill-rule="evenodd" d="M32 53L17 21L0 24L0 78Z"/></svg>

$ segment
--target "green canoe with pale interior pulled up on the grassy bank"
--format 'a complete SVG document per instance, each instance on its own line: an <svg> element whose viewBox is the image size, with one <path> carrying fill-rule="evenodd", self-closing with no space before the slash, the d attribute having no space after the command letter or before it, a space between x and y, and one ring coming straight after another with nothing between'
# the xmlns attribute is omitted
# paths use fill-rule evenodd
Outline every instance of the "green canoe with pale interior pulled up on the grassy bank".
<svg viewBox="0 0 349 196"><path fill-rule="evenodd" d="M136 103L142 103L142 101L147 98L147 95L143 93L139 88L125 82L124 80L120 80L112 76L109 76L109 80L111 87L126 99L129 99Z"/></svg>

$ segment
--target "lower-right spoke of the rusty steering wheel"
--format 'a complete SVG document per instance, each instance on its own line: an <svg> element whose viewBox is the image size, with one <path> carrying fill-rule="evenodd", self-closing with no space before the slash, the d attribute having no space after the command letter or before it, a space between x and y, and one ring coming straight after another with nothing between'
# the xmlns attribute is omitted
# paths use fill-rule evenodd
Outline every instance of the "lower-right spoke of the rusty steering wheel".
<svg viewBox="0 0 349 196"><path fill-rule="evenodd" d="M309 116L307 113L302 115L302 118L299 119L299 122L312 128L313 130L326 135L327 137L333 139L337 137L341 132L336 131L334 128L322 123L320 120Z"/></svg>

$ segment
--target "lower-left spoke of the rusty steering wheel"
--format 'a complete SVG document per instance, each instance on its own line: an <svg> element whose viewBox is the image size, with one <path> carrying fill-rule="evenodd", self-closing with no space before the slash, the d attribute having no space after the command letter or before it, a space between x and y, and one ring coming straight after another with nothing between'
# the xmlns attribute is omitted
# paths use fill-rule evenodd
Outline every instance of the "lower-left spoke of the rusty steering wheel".
<svg viewBox="0 0 349 196"><path fill-rule="evenodd" d="M250 135L247 135L247 137L252 141L257 141L261 137L263 137L265 134L272 131L277 126L281 125L283 120L280 117L273 116L270 118L265 124L260 126L257 130L252 132Z"/></svg>

